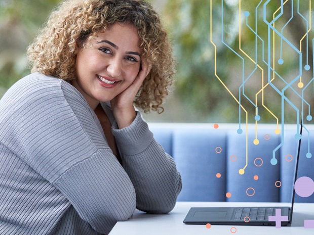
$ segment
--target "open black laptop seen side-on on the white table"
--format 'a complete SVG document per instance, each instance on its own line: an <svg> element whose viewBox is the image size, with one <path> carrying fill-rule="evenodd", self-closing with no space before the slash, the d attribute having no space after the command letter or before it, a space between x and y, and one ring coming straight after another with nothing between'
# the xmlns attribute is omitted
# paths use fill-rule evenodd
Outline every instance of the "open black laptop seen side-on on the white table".
<svg viewBox="0 0 314 235"><path fill-rule="evenodd" d="M303 125L300 125L302 136ZM266 225L275 226L275 221L269 221L268 216L275 216L276 209L281 209L281 216L288 216L288 221L282 221L286 226L292 222L294 204L294 183L297 179L301 139L298 141L297 158L294 169L291 207L192 207L183 222L185 224L212 224L212 225Z"/></svg>

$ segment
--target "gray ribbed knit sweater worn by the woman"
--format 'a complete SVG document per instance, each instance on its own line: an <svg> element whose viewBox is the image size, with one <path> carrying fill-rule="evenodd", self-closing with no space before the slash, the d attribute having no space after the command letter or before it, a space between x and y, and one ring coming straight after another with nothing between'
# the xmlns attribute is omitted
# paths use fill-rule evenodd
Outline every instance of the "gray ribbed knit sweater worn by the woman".
<svg viewBox="0 0 314 235"><path fill-rule="evenodd" d="M105 111L112 120L110 108ZM135 208L167 213L181 177L139 113L112 133L68 82L31 74L0 101L0 234L100 234Z"/></svg>

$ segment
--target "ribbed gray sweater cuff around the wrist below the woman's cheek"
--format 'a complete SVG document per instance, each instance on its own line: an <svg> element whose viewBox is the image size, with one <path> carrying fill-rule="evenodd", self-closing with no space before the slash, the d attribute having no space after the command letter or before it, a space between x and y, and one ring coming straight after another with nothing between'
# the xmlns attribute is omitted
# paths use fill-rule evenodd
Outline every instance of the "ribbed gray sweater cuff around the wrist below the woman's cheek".
<svg viewBox="0 0 314 235"><path fill-rule="evenodd" d="M138 111L131 125L123 129L119 129L114 121L112 134L121 153L126 155L135 155L143 152L150 145L153 138L147 123L142 119Z"/></svg>

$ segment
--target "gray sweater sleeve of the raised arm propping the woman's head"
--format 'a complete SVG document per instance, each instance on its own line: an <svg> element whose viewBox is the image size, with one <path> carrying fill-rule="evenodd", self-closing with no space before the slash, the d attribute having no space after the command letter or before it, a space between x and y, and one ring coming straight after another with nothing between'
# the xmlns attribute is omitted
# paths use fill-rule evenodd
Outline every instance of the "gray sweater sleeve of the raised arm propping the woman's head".
<svg viewBox="0 0 314 235"><path fill-rule="evenodd" d="M126 128L118 129L114 123L112 132L135 187L137 208L148 213L170 212L182 188L173 158L155 141L139 112Z"/></svg>

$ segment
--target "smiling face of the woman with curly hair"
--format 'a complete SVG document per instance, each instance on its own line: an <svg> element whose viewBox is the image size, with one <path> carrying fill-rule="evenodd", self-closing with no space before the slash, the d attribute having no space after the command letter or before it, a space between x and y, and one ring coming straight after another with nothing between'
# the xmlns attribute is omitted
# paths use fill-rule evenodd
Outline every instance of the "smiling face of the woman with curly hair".
<svg viewBox="0 0 314 235"><path fill-rule="evenodd" d="M139 41L135 26L115 23L76 49L77 77L71 83L92 109L132 84L141 65Z"/></svg>

